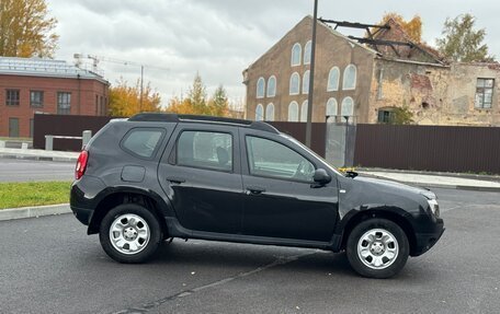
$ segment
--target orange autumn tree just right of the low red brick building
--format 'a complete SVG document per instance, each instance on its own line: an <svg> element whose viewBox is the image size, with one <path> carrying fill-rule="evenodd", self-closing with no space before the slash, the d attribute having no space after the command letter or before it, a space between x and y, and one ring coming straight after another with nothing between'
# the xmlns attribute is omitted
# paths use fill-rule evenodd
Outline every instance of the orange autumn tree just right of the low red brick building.
<svg viewBox="0 0 500 314"><path fill-rule="evenodd" d="M121 79L116 86L110 89L110 115L114 117L129 117L138 113L159 112L160 94L151 90L148 83L143 89L140 97L140 81L137 80L134 86L129 86Z"/></svg>

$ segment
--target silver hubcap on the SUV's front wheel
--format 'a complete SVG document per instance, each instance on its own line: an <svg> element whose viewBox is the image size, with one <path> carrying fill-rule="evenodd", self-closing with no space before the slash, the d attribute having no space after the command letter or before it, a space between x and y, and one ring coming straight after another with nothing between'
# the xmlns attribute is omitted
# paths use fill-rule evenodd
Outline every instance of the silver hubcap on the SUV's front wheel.
<svg viewBox="0 0 500 314"><path fill-rule="evenodd" d="M384 269L397 259L399 245L393 233L384 229L366 231L357 242L357 256L372 269Z"/></svg>

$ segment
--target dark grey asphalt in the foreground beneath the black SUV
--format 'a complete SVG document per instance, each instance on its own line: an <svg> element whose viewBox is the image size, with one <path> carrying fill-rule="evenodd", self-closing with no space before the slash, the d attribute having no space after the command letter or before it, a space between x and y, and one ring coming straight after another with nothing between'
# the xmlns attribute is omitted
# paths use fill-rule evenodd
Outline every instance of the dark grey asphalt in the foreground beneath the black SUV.
<svg viewBox="0 0 500 314"><path fill-rule="evenodd" d="M435 191L446 232L387 280L344 254L204 241L121 265L71 214L0 222L0 313L498 313L500 194Z"/></svg>

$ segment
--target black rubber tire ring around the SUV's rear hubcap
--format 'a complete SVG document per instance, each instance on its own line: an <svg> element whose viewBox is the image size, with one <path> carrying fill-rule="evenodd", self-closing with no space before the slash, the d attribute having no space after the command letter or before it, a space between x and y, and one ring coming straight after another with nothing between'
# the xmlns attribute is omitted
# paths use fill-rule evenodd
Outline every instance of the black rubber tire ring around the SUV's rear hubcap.
<svg viewBox="0 0 500 314"><path fill-rule="evenodd" d="M117 217L126 213L137 214L143 218L149 226L149 242L146 247L137 254L120 253L116 248L114 248L110 240L111 224ZM99 240L104 252L114 260L126 264L144 263L151 258L151 256L156 253L161 241L161 229L158 219L151 211L139 205L124 203L110 210L110 212L107 212L101 221Z"/></svg>

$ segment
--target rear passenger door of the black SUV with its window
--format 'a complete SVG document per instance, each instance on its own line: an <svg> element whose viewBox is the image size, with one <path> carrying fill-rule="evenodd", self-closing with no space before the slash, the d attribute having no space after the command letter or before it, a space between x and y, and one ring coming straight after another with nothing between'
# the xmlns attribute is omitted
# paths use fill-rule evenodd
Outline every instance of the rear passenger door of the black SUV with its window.
<svg viewBox="0 0 500 314"><path fill-rule="evenodd" d="M238 128L181 123L172 139L158 177L181 225L238 233L242 213Z"/></svg>

